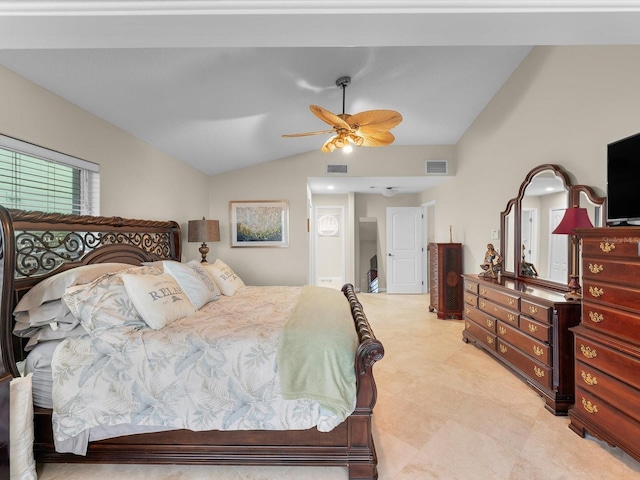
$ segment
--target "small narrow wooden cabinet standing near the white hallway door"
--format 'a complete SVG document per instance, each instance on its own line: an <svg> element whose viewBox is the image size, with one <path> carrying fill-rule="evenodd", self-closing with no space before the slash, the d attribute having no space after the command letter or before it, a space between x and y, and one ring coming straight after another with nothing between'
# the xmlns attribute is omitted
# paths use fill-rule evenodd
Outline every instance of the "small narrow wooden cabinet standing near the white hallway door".
<svg viewBox="0 0 640 480"><path fill-rule="evenodd" d="M429 311L438 318L462 318L462 244L429 244Z"/></svg>

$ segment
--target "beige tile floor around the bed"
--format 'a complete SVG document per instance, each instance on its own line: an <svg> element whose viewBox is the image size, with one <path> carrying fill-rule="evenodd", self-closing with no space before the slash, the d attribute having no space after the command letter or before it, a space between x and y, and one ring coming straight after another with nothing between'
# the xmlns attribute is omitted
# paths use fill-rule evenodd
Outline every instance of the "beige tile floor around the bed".
<svg viewBox="0 0 640 480"><path fill-rule="evenodd" d="M487 354L424 295L360 294L385 358L374 367L381 480L640 479L640 463L593 438ZM410 412L410 414L408 414ZM40 480L346 480L344 468L38 465Z"/></svg>

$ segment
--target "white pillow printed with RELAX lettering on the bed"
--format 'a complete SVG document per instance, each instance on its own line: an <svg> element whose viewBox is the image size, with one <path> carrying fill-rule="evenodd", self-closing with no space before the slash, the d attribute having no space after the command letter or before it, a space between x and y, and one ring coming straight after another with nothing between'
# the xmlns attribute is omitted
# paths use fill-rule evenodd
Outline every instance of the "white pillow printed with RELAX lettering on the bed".
<svg viewBox="0 0 640 480"><path fill-rule="evenodd" d="M133 306L154 330L196 311L189 297L169 274L123 274L122 281Z"/></svg>

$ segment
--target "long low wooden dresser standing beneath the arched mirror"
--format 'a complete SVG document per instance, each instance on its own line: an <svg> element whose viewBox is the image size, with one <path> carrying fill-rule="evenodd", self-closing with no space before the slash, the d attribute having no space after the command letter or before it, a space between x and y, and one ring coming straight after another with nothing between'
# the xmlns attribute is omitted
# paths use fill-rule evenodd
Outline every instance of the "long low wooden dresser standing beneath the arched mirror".
<svg viewBox="0 0 640 480"><path fill-rule="evenodd" d="M553 290L502 277L463 275L467 343L522 377L554 415L574 402L573 336L580 303Z"/></svg>

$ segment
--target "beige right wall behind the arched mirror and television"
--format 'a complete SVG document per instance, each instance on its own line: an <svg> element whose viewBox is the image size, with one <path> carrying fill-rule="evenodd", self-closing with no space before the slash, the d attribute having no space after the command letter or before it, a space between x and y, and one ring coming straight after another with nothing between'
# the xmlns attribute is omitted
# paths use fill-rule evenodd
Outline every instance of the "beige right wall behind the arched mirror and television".
<svg viewBox="0 0 640 480"><path fill-rule="evenodd" d="M562 165L606 188L606 145L640 131L640 46L536 47L457 145L457 176L435 199L436 240L464 247L479 272L491 229L533 167ZM497 244L498 242L496 242Z"/></svg>

